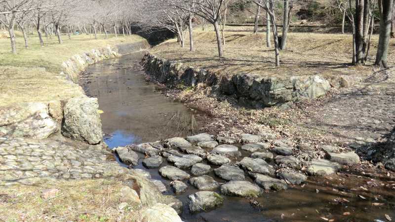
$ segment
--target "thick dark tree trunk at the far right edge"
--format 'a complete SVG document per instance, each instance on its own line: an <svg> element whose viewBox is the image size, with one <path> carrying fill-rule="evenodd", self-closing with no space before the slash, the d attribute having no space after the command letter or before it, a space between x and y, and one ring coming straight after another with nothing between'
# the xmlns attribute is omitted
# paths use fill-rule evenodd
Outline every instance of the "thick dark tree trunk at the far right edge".
<svg viewBox="0 0 395 222"><path fill-rule="evenodd" d="M391 19L394 0L379 0L380 34L377 46L376 63L380 67L388 68L387 55L390 43Z"/></svg>

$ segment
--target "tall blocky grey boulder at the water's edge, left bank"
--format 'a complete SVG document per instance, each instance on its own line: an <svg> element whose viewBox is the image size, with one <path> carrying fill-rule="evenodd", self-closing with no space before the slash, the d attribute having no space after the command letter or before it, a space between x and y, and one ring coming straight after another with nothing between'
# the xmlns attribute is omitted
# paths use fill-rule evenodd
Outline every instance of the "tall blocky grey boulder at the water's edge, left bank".
<svg viewBox="0 0 395 222"><path fill-rule="evenodd" d="M98 144L103 140L102 123L96 98L71 98L64 107L62 134L75 140Z"/></svg>

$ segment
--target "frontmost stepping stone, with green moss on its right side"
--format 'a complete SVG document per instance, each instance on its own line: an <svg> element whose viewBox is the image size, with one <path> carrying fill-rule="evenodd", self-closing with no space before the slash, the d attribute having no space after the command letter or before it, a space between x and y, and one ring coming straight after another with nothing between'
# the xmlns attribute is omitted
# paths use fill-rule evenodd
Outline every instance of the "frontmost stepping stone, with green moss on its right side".
<svg viewBox="0 0 395 222"><path fill-rule="evenodd" d="M224 204L224 198L212 191L198 191L188 198L191 200L189 210L192 213L212 210Z"/></svg>

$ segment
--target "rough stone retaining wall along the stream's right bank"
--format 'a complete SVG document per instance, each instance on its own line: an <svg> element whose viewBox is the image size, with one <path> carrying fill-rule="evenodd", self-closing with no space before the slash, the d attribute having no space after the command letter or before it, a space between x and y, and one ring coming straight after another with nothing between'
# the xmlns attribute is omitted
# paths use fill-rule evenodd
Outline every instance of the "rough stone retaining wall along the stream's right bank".
<svg viewBox="0 0 395 222"><path fill-rule="evenodd" d="M211 87L211 93L236 96L246 105L262 108L280 106L288 102L316 99L325 95L332 87L319 75L290 76L276 78L259 74L219 74L171 62L146 53L142 63L147 74L168 87L182 84L195 87L197 84Z"/></svg>

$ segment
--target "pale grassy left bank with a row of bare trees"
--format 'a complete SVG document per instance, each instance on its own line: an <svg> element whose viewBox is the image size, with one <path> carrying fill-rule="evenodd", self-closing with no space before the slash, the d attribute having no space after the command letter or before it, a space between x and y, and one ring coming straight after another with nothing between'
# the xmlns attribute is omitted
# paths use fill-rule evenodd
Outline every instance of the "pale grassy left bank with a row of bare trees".
<svg viewBox="0 0 395 222"><path fill-rule="evenodd" d="M75 54L108 44L142 40L142 37L110 37L94 39L86 35L63 36L64 43L58 44L52 37L43 47L37 36L29 38L29 49L24 48L24 40L17 37L17 55L10 53L9 39L0 39L0 106L19 102L47 102L63 100L82 94L75 84L67 84L59 76L61 64Z"/></svg>

